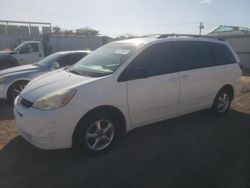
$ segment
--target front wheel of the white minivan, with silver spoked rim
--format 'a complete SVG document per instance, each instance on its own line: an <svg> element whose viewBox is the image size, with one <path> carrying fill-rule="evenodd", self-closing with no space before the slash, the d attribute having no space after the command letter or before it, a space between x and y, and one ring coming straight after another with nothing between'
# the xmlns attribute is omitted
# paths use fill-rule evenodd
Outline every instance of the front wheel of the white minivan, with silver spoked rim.
<svg viewBox="0 0 250 188"><path fill-rule="evenodd" d="M120 135L120 120L99 112L80 120L74 134L74 146L85 154L96 155L108 151Z"/></svg>

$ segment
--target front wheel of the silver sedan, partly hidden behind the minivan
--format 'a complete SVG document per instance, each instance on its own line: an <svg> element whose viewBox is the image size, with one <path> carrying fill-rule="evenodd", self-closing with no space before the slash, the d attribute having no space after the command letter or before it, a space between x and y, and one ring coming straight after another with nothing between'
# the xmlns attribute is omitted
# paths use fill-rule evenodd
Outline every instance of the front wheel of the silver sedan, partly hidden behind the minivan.
<svg viewBox="0 0 250 188"><path fill-rule="evenodd" d="M8 101L13 103L16 97L22 92L22 90L28 83L28 81L18 81L12 84L7 93Z"/></svg>

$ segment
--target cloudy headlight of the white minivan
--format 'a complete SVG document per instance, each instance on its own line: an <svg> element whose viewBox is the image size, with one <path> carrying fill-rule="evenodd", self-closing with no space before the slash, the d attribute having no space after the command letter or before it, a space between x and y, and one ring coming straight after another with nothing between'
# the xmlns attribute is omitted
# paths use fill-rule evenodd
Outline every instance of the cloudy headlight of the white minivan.
<svg viewBox="0 0 250 188"><path fill-rule="evenodd" d="M76 90L59 90L34 102L33 107L41 110L51 110L65 106L75 95Z"/></svg>

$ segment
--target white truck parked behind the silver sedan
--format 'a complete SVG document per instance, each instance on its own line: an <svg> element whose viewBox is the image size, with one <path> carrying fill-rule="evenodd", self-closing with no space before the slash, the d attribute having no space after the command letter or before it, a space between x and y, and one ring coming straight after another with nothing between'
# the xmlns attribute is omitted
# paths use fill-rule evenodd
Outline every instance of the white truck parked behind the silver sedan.
<svg viewBox="0 0 250 188"><path fill-rule="evenodd" d="M13 51L0 52L0 70L37 62L44 58L44 49L40 41L27 41Z"/></svg>

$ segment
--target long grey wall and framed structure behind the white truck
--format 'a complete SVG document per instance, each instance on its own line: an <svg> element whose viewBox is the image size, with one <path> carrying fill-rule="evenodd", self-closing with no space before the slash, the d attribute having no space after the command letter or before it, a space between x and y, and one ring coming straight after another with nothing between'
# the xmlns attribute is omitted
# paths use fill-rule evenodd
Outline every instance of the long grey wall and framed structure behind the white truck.
<svg viewBox="0 0 250 188"><path fill-rule="evenodd" d="M0 50L14 49L24 41L41 41L45 55L49 55L63 50L95 50L108 38L56 34L48 22L0 20Z"/></svg>

